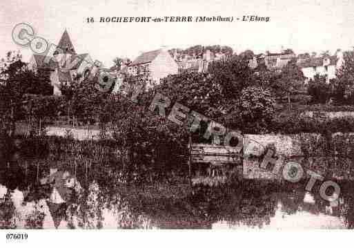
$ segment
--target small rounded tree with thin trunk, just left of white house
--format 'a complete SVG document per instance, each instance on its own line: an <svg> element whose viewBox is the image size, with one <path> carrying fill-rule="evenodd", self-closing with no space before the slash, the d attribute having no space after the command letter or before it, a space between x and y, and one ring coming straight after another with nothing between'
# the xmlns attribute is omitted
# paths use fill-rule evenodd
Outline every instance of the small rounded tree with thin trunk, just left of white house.
<svg viewBox="0 0 354 248"><path fill-rule="evenodd" d="M288 106L291 104L291 95L304 86L304 80L304 73L297 66L296 59L291 59L282 69L278 80L280 93L288 97Z"/></svg>

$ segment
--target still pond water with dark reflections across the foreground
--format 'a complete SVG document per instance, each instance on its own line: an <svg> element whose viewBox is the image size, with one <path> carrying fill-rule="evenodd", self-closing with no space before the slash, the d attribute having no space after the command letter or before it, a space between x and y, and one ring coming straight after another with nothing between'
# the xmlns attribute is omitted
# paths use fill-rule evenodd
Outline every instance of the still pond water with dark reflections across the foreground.
<svg viewBox="0 0 354 248"><path fill-rule="evenodd" d="M340 198L330 204L320 197L320 184L305 191L308 180L293 184L237 179L192 187L183 162L175 161L174 168L181 171L164 174L170 161L155 166L163 173L158 179L139 181L134 173L144 163L134 168L126 165L122 150L110 144L70 140L1 144L1 229L354 227L354 181L348 176L338 181ZM328 175L351 173L352 161L344 166L326 159L329 162L324 167L331 170ZM133 178L127 179L127 169ZM150 177L144 172L140 175L144 180Z"/></svg>

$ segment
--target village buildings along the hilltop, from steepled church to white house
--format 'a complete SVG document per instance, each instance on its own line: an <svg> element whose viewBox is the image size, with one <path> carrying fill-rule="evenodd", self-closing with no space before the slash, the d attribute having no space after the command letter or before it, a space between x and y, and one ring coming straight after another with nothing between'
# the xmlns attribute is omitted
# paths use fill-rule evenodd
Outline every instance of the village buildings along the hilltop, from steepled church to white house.
<svg viewBox="0 0 354 248"><path fill-rule="evenodd" d="M90 72L90 68L94 61L89 53L78 54L70 39L68 31L65 30L58 43L59 48L53 56L58 59L60 55L66 56L66 61L79 60L79 63L71 67L66 73L57 68L57 64L53 59L48 59L50 63L44 63L46 57L43 55L32 55L28 68L36 70L39 67L49 68L50 81L54 87L54 95L61 95L61 84L71 84L77 75L81 76L81 80L85 79ZM60 54L61 53L61 54ZM119 62L110 68L100 67L99 70L106 71L116 78L116 84L113 92L117 92L124 84L124 78L130 76L148 75L151 87L159 84L160 79L168 75L176 75L184 72L207 73L208 65L213 61L222 61L233 56L233 50L227 46L194 46L185 50L173 48L166 50L160 48L141 53L133 60L128 58L119 59ZM342 50L338 49L333 55L329 55L328 51L322 55L304 53L296 55L291 49L282 49L280 53L254 54L251 50L246 50L239 56L244 57L248 61L250 68L257 71L259 68L267 68L268 70L280 73L282 68L289 61L295 59L297 66L301 68L304 74L304 84L308 84L310 79L314 79L315 75L324 76L329 84L331 79L336 77L336 71L341 68L344 58ZM65 67L65 64L60 66Z"/></svg>

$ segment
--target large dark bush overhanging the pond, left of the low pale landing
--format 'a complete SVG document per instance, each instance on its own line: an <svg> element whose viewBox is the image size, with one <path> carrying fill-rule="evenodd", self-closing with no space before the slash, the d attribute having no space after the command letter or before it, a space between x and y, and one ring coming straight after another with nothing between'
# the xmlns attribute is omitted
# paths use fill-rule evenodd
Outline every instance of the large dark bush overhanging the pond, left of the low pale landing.
<svg viewBox="0 0 354 248"><path fill-rule="evenodd" d="M150 112L150 100L144 99L138 105L121 96L116 105L114 136L126 151L125 173L129 181L152 182L166 178L172 169L186 169L180 166L179 157L187 151L186 131L166 117Z"/></svg>

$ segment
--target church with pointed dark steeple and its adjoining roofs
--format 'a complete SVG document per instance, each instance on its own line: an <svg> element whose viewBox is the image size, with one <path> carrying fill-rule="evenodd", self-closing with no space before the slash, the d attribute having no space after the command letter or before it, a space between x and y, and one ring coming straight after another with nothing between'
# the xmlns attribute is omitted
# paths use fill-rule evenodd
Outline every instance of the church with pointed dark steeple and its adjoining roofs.
<svg viewBox="0 0 354 248"><path fill-rule="evenodd" d="M80 77L80 80L87 77L94 61L92 61L88 53L79 55L76 53L67 30L61 35L57 47L53 55L48 55L52 57L32 55L28 68L30 70L37 70L38 68L50 69L50 82L54 87L54 95L61 95L61 85L71 84L77 77Z"/></svg>

